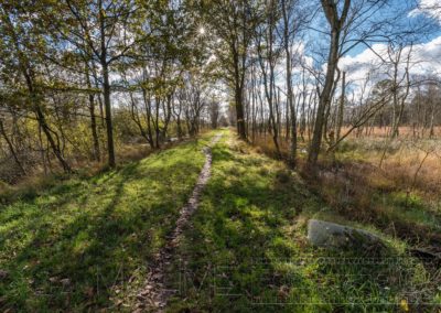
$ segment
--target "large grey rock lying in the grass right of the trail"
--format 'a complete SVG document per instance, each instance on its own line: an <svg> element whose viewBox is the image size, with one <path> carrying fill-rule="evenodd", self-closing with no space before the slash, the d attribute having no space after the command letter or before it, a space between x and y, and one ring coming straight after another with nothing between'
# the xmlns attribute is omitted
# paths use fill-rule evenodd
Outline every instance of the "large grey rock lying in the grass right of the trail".
<svg viewBox="0 0 441 313"><path fill-rule="evenodd" d="M308 239L316 247L349 250L383 250L385 245L372 233L335 223L310 219Z"/></svg>

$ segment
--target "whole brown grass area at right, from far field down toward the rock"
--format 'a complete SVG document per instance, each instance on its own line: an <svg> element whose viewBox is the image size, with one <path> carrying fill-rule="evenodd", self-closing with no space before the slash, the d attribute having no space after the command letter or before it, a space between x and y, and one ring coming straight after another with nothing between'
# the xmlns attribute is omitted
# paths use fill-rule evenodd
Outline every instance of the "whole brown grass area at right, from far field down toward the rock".
<svg viewBox="0 0 441 313"><path fill-rule="evenodd" d="M415 141L400 136L389 142L377 134L347 138L337 153L322 155L316 173L303 166L306 143L300 142L298 163L302 176L312 191L347 219L373 224L386 234L441 251L441 234L406 215L415 209L412 204L390 204L396 195L405 199L417 196L422 199L423 214L441 220L441 139ZM255 144L261 152L276 155L271 137L258 138ZM281 142L280 147L287 158L288 143Z"/></svg>

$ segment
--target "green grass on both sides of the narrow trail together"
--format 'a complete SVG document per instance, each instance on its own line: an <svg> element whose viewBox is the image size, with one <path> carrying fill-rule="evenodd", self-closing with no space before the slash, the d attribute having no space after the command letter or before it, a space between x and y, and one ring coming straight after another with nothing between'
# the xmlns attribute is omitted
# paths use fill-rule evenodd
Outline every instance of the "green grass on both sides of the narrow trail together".
<svg viewBox="0 0 441 313"><path fill-rule="evenodd" d="M387 303L412 302L407 292L413 291L441 302L439 278L406 253L407 242L374 224L349 222L282 162L223 132L212 177L168 269L166 283L179 290L170 312L397 312L406 303ZM0 278L0 310L130 312L213 134L119 170L22 193L0 207L0 269L8 273ZM409 218L421 214L417 195L392 193L386 201ZM310 218L377 234L388 247L385 261L311 247Z"/></svg>

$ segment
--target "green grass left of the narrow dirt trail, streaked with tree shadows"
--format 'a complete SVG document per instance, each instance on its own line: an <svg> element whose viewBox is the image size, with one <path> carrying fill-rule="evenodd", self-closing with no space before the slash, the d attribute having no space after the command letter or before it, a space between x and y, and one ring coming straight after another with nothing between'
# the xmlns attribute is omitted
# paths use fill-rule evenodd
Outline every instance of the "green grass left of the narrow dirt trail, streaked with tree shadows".
<svg viewBox="0 0 441 313"><path fill-rule="evenodd" d="M114 307L173 228L208 137L0 206L0 311Z"/></svg>

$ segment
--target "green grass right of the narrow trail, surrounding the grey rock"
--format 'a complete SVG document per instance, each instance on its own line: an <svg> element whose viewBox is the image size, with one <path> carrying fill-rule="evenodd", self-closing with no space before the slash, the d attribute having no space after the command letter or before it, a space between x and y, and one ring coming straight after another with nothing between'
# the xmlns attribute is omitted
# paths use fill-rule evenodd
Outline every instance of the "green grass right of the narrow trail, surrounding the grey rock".
<svg viewBox="0 0 441 313"><path fill-rule="evenodd" d="M369 263L366 256L314 249L305 238L311 217L367 228L389 253L384 263ZM349 223L282 163L232 134L213 150L213 176L184 238L174 265L179 284L170 280L180 293L170 312L392 312L412 300L408 291L430 285L430 301L437 293L405 242ZM338 261L343 257L352 259Z"/></svg>

